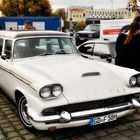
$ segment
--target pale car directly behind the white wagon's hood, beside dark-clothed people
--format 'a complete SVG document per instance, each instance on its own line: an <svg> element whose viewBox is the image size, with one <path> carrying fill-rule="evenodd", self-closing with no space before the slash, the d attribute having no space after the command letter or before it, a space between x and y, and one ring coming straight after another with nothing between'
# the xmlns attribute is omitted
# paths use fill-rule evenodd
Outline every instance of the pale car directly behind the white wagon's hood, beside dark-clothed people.
<svg viewBox="0 0 140 140"><path fill-rule="evenodd" d="M115 64L116 40L93 39L79 45L78 50L83 57Z"/></svg>

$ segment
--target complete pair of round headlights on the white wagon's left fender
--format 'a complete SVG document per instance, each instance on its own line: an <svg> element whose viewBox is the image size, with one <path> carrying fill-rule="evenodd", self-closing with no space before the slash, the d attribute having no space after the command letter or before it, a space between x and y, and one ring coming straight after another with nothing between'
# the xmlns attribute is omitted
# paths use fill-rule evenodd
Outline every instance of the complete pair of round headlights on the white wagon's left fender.
<svg viewBox="0 0 140 140"><path fill-rule="evenodd" d="M63 87L60 84L47 85L41 88L39 95L41 98L58 97L62 94Z"/></svg>

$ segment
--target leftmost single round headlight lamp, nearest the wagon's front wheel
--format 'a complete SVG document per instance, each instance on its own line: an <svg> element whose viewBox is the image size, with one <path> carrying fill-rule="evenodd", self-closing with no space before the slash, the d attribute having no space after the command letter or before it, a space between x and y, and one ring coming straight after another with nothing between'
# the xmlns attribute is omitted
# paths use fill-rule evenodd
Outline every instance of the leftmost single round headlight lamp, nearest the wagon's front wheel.
<svg viewBox="0 0 140 140"><path fill-rule="evenodd" d="M40 90L40 97L48 98L51 96L51 89L49 87L44 87Z"/></svg>

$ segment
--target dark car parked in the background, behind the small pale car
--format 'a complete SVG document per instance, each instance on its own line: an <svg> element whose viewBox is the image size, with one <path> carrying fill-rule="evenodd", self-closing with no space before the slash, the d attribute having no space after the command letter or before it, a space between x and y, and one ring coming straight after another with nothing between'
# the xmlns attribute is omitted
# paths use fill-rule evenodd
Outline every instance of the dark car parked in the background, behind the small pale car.
<svg viewBox="0 0 140 140"><path fill-rule="evenodd" d="M76 33L76 45L89 40L100 37L100 24L89 24L85 27L83 31L78 31Z"/></svg>

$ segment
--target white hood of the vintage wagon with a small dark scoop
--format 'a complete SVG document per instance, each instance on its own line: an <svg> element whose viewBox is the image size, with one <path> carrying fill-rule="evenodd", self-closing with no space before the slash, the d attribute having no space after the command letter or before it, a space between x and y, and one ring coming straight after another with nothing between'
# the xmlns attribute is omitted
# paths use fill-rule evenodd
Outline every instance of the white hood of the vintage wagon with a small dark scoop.
<svg viewBox="0 0 140 140"><path fill-rule="evenodd" d="M60 83L69 103L101 100L130 92L121 73L118 76L111 64L108 68L108 65L79 55L36 57L17 61L15 65L23 77L39 88Z"/></svg>

